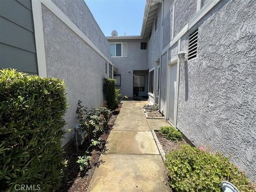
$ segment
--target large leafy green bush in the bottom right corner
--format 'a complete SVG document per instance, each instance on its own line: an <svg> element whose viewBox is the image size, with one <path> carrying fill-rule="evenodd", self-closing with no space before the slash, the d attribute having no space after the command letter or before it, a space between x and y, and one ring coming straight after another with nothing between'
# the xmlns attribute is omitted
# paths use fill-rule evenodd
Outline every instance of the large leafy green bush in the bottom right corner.
<svg viewBox="0 0 256 192"><path fill-rule="evenodd" d="M245 174L219 153L184 145L166 155L165 166L175 191L222 191L222 181L233 183L241 192L254 191Z"/></svg>

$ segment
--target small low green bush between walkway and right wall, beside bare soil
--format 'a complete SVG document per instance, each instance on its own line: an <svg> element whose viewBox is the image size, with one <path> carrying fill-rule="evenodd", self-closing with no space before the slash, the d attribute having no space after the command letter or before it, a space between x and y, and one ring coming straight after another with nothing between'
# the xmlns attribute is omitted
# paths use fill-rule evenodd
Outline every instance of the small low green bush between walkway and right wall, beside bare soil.
<svg viewBox="0 0 256 192"><path fill-rule="evenodd" d="M167 139L174 142L180 141L182 139L182 133L172 126L162 126L160 133L163 134Z"/></svg>

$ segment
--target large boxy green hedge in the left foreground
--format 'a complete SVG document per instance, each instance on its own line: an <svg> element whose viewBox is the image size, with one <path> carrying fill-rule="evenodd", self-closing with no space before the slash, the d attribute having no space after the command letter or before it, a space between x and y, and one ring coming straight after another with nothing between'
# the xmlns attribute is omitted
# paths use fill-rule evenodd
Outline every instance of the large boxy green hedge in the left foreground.
<svg viewBox="0 0 256 192"><path fill-rule="evenodd" d="M0 190L60 185L65 90L60 79L0 70Z"/></svg>

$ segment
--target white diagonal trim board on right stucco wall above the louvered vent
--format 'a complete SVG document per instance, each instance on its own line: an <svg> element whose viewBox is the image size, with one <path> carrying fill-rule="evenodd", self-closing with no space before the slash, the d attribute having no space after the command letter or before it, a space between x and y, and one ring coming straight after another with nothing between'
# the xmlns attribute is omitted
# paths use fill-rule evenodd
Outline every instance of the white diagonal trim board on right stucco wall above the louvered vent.
<svg viewBox="0 0 256 192"><path fill-rule="evenodd" d="M166 47L162 50L162 55L169 50L170 47L172 47L176 42L179 41L179 39L187 33L189 29L191 29L196 23L204 17L209 11L213 9L215 5L217 5L221 0L211 0L208 3L206 3L202 9L200 9L196 15L187 23L185 27L183 27L180 32L172 39L172 41L166 45ZM175 11L175 10L173 10Z"/></svg>

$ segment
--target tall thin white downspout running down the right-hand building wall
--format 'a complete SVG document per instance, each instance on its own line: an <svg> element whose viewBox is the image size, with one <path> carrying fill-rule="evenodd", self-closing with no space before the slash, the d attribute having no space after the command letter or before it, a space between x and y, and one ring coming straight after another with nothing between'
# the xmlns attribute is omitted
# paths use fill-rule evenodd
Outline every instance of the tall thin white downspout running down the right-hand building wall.
<svg viewBox="0 0 256 192"><path fill-rule="evenodd" d="M160 38L160 58L159 58L159 90L158 90L158 110L161 109L161 78L162 78L162 47L163 47L163 19L164 19L164 0L162 2L162 17L161 17L161 38ZM167 55L168 57L168 55ZM157 71L158 72L158 71ZM157 85L158 86L158 85Z"/></svg>

